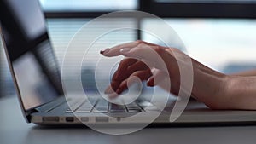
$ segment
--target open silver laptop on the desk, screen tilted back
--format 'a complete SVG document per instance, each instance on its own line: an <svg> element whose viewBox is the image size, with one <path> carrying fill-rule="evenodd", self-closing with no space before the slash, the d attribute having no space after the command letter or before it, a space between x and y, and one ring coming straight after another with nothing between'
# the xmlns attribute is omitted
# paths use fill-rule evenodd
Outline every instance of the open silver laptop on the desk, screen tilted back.
<svg viewBox="0 0 256 144"><path fill-rule="evenodd" d="M27 123L148 125L148 118L156 116L150 125L256 124L255 111L213 111L195 100L170 122L177 101L172 95L163 108L148 101L147 95L124 105L108 102L99 94L67 99L38 1L2 0L0 7L3 47ZM135 121L127 121L134 115Z"/></svg>

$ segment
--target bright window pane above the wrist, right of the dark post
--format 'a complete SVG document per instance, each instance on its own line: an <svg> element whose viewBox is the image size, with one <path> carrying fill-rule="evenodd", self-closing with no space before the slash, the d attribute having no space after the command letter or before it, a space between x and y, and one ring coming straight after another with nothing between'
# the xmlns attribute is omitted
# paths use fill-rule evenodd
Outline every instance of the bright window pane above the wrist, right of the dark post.
<svg viewBox="0 0 256 144"><path fill-rule="evenodd" d="M225 73L256 69L256 20L164 20L181 37L188 54L195 60ZM153 29L160 27L160 24L155 20L143 20L142 26ZM142 37L146 41L158 43L154 37L145 33Z"/></svg>

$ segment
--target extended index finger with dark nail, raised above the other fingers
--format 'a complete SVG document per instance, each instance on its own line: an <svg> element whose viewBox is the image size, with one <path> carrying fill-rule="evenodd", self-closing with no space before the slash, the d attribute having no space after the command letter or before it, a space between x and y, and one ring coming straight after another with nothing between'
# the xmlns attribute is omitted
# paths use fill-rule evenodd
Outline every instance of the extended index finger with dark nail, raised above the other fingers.
<svg viewBox="0 0 256 144"><path fill-rule="evenodd" d="M131 42L131 43L124 43L124 44L119 44L117 46L114 46L111 49L103 49L101 50L101 54L104 56L112 57L112 56L118 56L120 54L120 49L125 49L125 48L134 48L138 45L138 42Z"/></svg>

